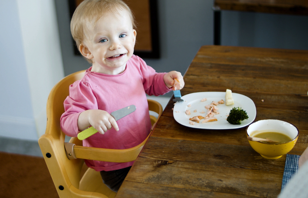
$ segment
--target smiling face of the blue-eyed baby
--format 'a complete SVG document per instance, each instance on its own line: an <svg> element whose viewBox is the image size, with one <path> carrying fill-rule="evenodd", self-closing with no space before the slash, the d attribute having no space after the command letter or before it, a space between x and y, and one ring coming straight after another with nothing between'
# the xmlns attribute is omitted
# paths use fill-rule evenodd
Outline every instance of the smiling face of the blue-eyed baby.
<svg viewBox="0 0 308 198"><path fill-rule="evenodd" d="M88 27L82 54L92 59L91 71L120 74L134 53L136 30L127 11L118 10L102 16L93 28Z"/></svg>

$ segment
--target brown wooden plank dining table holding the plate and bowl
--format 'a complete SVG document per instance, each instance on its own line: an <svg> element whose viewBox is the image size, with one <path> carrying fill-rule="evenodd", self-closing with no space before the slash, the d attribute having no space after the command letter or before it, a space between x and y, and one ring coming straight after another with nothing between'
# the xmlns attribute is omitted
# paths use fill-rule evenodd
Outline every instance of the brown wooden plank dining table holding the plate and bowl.
<svg viewBox="0 0 308 198"><path fill-rule="evenodd" d="M308 51L201 46L184 81L182 96L231 89L253 100L255 121L294 124L299 136L288 154L301 155L308 146ZM246 127L186 127L174 119L172 99L116 198L279 195L286 155L260 156L249 145Z"/></svg>

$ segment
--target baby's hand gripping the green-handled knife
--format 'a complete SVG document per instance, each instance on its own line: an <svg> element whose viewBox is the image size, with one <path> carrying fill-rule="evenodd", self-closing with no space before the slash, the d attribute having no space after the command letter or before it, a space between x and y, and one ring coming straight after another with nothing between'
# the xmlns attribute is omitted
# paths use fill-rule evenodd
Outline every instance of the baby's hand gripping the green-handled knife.
<svg viewBox="0 0 308 198"><path fill-rule="evenodd" d="M78 128L83 131L91 125L99 133L104 134L107 130L112 127L116 131L119 131L118 124L116 123L114 117L112 117L107 111L99 109L91 109L83 111L78 117Z"/></svg>

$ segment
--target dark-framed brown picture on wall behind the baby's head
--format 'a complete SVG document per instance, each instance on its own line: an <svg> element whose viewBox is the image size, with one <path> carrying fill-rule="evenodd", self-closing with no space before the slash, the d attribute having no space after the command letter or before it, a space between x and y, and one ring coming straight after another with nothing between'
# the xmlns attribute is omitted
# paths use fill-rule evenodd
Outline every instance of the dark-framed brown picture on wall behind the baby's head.
<svg viewBox="0 0 308 198"><path fill-rule="evenodd" d="M83 0L68 0L71 17ZM160 58L157 0L124 0L134 13L137 38L134 54L141 58ZM74 43L75 55L80 55Z"/></svg>

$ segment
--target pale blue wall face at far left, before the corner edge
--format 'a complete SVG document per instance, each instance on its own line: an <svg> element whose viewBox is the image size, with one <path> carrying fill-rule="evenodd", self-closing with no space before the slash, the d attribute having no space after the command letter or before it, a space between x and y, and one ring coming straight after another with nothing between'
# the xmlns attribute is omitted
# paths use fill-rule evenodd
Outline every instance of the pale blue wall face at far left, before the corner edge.
<svg viewBox="0 0 308 198"><path fill-rule="evenodd" d="M1 1L0 18L0 135L35 139L17 2Z"/></svg>

